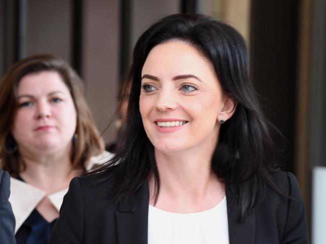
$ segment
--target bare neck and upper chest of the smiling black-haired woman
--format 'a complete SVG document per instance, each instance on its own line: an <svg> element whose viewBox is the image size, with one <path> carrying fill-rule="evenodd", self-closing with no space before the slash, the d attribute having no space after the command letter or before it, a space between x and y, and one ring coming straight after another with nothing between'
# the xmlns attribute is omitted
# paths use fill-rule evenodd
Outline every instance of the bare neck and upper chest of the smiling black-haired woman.
<svg viewBox="0 0 326 244"><path fill-rule="evenodd" d="M196 150L171 154L155 151L160 176L155 206L172 212L196 212L217 205L225 196L225 187L211 169L211 154ZM150 204L154 205L153 175L149 182Z"/></svg>

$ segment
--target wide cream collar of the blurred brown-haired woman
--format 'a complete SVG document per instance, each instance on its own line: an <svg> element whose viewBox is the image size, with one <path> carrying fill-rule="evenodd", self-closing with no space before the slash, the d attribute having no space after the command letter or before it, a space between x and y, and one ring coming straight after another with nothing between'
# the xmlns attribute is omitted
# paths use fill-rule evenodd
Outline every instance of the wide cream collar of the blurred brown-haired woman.
<svg viewBox="0 0 326 244"><path fill-rule="evenodd" d="M106 161L110 160L112 157L113 154L107 151L104 151L100 155L91 157L86 166L86 170L92 169L95 165L103 164ZM16 218L16 234L18 229L22 226L22 224L25 222L31 212L46 196L46 192L13 177L11 177L10 180L10 191L11 194L9 197L9 201L12 205L13 212ZM61 191L48 195L50 202L58 211L60 210L63 197L67 193L67 191L68 188L65 188Z"/></svg>

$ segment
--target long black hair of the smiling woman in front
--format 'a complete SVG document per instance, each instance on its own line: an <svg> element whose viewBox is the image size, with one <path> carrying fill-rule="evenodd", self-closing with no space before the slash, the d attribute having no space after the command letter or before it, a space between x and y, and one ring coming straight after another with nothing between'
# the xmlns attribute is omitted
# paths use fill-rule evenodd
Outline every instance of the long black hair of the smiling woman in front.
<svg viewBox="0 0 326 244"><path fill-rule="evenodd" d="M248 74L247 48L243 37L231 26L202 15L171 15L150 26L139 38L130 72L127 121L116 156L97 180L112 178L109 189L118 201L131 196L147 180L150 171L159 192L159 174L154 148L146 136L139 111L141 72L153 47L169 40L181 40L197 48L213 65L226 94L237 102L231 119L221 125L220 140L211 167L225 180L227 192L239 206L239 217L259 203L269 176L273 142Z"/></svg>

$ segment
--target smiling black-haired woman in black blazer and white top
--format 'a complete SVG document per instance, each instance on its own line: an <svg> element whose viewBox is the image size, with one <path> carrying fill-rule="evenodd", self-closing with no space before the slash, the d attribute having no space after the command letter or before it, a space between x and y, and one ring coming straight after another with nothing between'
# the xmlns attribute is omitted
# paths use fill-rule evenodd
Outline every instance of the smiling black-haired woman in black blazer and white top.
<svg viewBox="0 0 326 244"><path fill-rule="evenodd" d="M117 154L71 181L49 243L307 243L247 66L241 35L207 17L145 31Z"/></svg>

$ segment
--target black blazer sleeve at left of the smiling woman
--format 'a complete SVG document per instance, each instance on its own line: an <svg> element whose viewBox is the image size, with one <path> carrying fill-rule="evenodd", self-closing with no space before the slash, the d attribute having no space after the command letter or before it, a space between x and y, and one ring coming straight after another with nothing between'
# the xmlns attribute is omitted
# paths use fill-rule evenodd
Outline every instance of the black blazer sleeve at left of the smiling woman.
<svg viewBox="0 0 326 244"><path fill-rule="evenodd" d="M78 177L71 180L49 244L83 243L84 201Z"/></svg>

